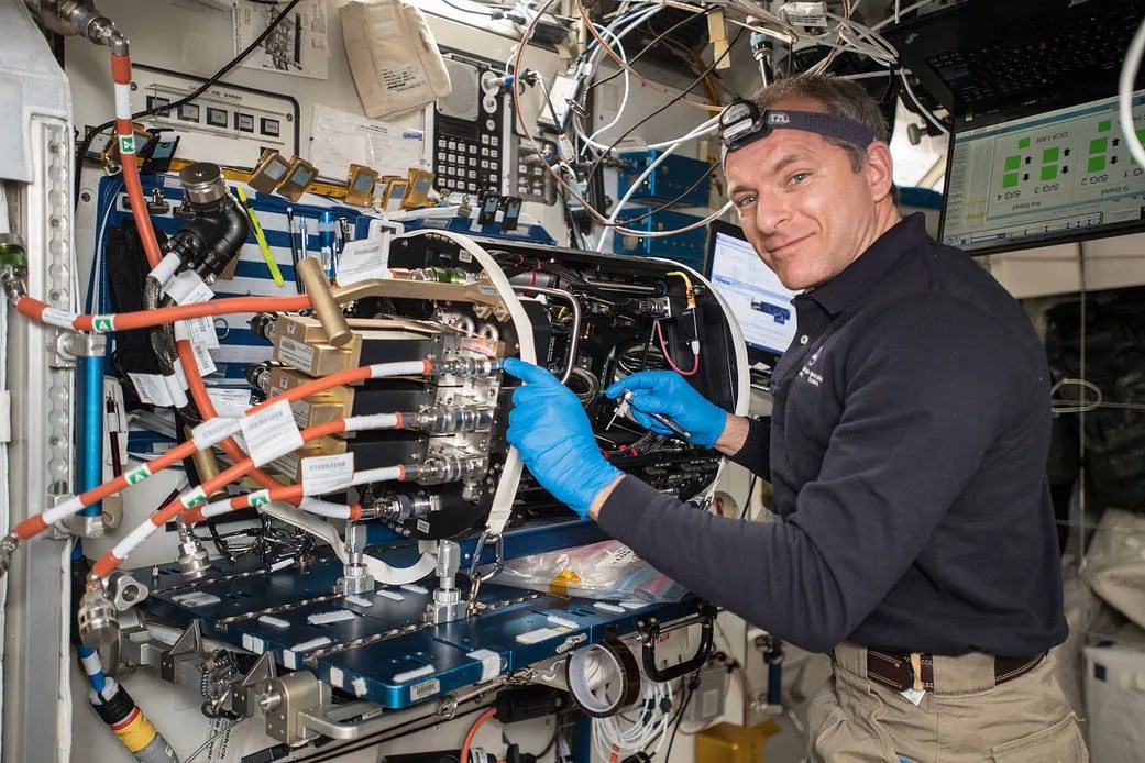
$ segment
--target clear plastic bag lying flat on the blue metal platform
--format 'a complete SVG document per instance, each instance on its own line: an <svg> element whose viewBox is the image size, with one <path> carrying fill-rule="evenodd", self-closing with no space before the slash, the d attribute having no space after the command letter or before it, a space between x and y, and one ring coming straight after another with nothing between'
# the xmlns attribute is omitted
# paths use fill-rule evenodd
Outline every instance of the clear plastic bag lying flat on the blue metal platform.
<svg viewBox="0 0 1145 763"><path fill-rule="evenodd" d="M489 582L616 602L678 602L687 593L615 540L508 559L505 570Z"/></svg>

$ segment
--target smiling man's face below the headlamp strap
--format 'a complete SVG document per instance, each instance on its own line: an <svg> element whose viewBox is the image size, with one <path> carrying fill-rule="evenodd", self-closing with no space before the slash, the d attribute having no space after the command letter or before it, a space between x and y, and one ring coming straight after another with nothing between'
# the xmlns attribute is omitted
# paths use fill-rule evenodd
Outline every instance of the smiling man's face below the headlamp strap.
<svg viewBox="0 0 1145 763"><path fill-rule="evenodd" d="M824 111L805 97L773 109ZM889 184L878 164L856 173L822 135L776 129L729 153L724 168L748 240L784 286L802 291L840 273L883 232L876 201Z"/></svg>

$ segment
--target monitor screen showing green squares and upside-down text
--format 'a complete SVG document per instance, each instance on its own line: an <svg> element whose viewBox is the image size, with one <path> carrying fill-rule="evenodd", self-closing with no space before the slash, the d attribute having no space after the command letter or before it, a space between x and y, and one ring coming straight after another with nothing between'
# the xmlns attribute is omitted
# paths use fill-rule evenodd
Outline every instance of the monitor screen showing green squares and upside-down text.
<svg viewBox="0 0 1145 763"><path fill-rule="evenodd" d="M1145 137L1145 90L1134 122ZM1118 100L1098 98L955 132L939 240L1009 252L1143 230L1143 210L1145 167L1126 145Z"/></svg>

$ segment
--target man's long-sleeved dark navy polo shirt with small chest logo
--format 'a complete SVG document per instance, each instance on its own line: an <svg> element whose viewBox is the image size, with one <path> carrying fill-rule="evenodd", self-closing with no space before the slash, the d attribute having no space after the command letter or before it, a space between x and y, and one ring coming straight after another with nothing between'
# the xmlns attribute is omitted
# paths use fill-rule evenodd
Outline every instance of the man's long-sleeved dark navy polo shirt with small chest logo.
<svg viewBox="0 0 1145 763"><path fill-rule="evenodd" d="M1021 307L922 215L797 296L773 415L735 456L783 522L625 477L599 523L795 644L1025 657L1066 636L1045 355Z"/></svg>

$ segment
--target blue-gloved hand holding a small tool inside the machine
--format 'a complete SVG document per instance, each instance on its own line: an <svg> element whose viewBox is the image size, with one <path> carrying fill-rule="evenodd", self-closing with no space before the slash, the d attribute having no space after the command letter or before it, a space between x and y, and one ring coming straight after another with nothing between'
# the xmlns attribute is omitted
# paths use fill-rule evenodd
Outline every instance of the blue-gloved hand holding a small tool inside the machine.
<svg viewBox="0 0 1145 763"><path fill-rule="evenodd" d="M674 371L640 371L614 383L605 395L619 397L632 390L632 418L658 435L674 432L648 416L662 413L690 435L688 442L712 447L724 434L727 413L697 392Z"/></svg>

